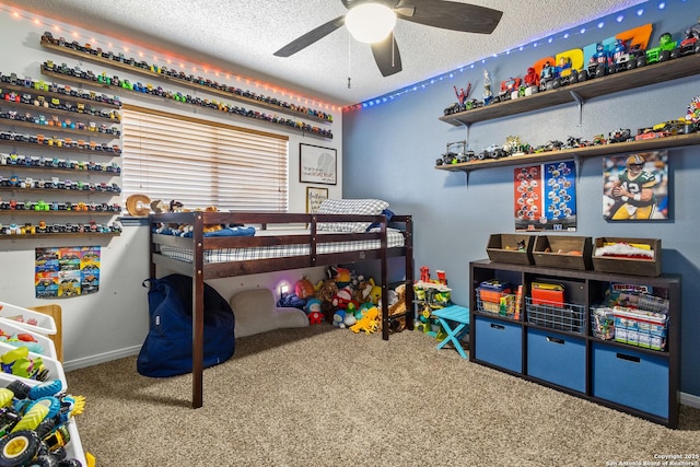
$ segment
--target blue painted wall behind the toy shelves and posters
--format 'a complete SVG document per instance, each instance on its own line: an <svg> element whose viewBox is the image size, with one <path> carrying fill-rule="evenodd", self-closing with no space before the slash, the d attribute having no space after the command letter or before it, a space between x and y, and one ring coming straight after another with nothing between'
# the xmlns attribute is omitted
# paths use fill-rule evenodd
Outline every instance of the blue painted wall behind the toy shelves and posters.
<svg viewBox="0 0 700 467"><path fill-rule="evenodd" d="M471 260L486 258L486 245L492 233L514 232L513 170L495 167L464 173L434 170L435 159L452 141L469 139L474 150L491 143L503 143L509 135L520 136L533 145L548 140L565 140L569 136L593 139L594 135L618 128L633 131L667 119L685 116L690 100L700 94L700 77L654 84L628 92L593 98L583 106L579 127L575 104L533 112L525 115L453 127L439 120L443 109L455 102L453 85L466 87L471 82L472 96L481 98L482 70L490 71L494 89L513 75L524 75L527 67L545 56L564 51L610 37L645 23L653 24L652 44L663 32L674 38L700 16L696 1L670 0L666 8L646 2L626 10L620 23L618 14L580 27L569 38L562 34L538 47L528 45L523 51L491 57L474 69L455 70L454 77L436 78L419 83L416 91L398 90L386 103L350 110L343 115L343 197L376 197L390 202L397 213L410 213L415 220L416 268L443 269L453 288L456 303L469 303L469 268ZM639 16L638 10L644 13ZM410 66L410 57L404 58ZM424 86L422 84L425 84ZM411 89L413 86L410 86ZM591 237L627 236L661 238L663 271L682 275L681 310L681 392L700 397L700 314L695 288L700 269L700 147L668 151L670 176L670 220L663 222L609 223L602 213L602 157L584 159L578 180L578 232ZM416 271L418 272L418 271Z"/></svg>

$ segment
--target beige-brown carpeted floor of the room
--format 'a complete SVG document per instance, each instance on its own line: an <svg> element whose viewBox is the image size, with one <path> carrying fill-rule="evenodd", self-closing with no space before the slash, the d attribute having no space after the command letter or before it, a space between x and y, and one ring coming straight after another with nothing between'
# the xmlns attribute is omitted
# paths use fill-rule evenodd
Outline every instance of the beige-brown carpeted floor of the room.
<svg viewBox="0 0 700 467"><path fill-rule="evenodd" d="M681 407L669 430L435 350L417 331L383 341L324 324L238 339L205 371L197 410L191 375L143 377L136 358L67 377L86 396L77 422L97 467L641 466L700 454L700 410Z"/></svg>

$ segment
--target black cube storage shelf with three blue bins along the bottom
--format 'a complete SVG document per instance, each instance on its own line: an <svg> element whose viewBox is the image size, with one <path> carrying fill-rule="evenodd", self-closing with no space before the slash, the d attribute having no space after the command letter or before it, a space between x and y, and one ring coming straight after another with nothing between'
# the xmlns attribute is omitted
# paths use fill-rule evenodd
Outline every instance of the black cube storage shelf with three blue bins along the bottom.
<svg viewBox="0 0 700 467"><path fill-rule="evenodd" d="M471 261L470 360L596 404L678 425L680 276L641 277L535 265ZM482 282L523 287L520 319L479 307ZM562 284L563 303L533 304L532 283ZM595 312L610 284L646 285L665 296L665 346L610 338Z"/></svg>

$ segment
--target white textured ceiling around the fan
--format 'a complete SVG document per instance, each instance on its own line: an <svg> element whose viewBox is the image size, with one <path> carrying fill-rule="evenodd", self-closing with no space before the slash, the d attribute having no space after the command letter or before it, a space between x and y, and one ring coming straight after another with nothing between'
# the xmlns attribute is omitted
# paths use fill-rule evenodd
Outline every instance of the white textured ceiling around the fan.
<svg viewBox="0 0 700 467"><path fill-rule="evenodd" d="M300 35L343 15L347 10L340 0L0 0L0 3L341 106L388 94L483 57L645 3L645 0L455 1L501 10L503 17L491 35L444 31L398 20L395 37L404 70L387 78L377 70L370 46L350 39L345 27L289 58L272 55Z"/></svg>

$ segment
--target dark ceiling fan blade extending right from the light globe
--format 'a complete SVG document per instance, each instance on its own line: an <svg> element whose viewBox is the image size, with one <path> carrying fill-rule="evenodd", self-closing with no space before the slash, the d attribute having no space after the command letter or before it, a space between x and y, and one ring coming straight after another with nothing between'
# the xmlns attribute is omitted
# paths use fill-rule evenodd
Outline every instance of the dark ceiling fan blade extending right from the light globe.
<svg viewBox="0 0 700 467"><path fill-rule="evenodd" d="M499 10L444 0L401 0L395 11L413 23L479 34L491 34L503 15Z"/></svg>

